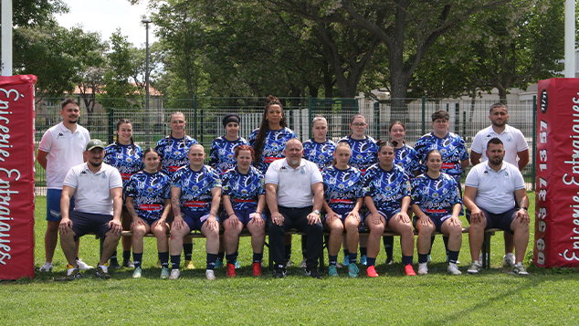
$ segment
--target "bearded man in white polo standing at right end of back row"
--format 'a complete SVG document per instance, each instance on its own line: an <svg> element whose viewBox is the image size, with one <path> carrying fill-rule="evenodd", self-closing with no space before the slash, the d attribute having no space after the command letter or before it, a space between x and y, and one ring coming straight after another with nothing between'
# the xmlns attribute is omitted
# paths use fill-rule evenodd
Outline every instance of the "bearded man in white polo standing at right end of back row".
<svg viewBox="0 0 579 326"><path fill-rule="evenodd" d="M487 161L489 159L485 154L487 142L497 137L504 145L505 161L519 167L519 171L522 171L527 163L529 163L529 145L520 130L507 124L509 121L509 111L507 107L503 103L491 105L489 119L491 125L479 131L472 142L470 163L474 166L480 162ZM517 161L517 156L519 157L519 161ZM512 254L514 248L512 236L509 232L505 232L504 238L505 256L503 258L503 264L512 267L515 263L515 256Z"/></svg>

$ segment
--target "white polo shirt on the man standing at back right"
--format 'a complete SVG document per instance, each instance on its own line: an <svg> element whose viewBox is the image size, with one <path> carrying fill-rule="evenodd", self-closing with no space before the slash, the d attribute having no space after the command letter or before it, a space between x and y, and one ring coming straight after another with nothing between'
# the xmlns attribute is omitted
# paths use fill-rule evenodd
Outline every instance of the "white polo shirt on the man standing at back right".
<svg viewBox="0 0 579 326"><path fill-rule="evenodd" d="M480 162L489 160L489 157L487 157L487 143L495 137L502 141L505 150L504 161L519 166L517 163L517 152L529 150L529 145L525 141L525 136L522 132L508 124L505 124L505 130L500 134L492 129L492 125L479 131L472 141L470 150L482 154Z"/></svg>

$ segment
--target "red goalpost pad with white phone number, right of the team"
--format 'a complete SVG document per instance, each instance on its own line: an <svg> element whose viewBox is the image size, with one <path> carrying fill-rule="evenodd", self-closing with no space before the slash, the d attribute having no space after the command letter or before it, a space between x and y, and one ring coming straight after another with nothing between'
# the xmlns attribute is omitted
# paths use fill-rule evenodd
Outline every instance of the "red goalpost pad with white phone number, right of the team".
<svg viewBox="0 0 579 326"><path fill-rule="evenodd" d="M579 79L539 81L534 262L579 266Z"/></svg>

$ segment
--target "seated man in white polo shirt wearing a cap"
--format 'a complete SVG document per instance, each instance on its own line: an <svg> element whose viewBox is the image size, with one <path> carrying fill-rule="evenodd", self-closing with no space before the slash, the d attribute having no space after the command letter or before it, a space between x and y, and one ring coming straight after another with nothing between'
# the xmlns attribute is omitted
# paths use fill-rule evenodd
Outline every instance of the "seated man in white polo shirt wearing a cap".
<svg viewBox="0 0 579 326"><path fill-rule="evenodd" d="M87 144L87 163L73 166L64 179L60 211L60 246L68 260L65 280L79 279L75 260L75 240L90 232L104 237L96 275L110 279L107 261L121 237L122 179L119 170L102 163L105 145L99 140ZM69 213L70 197L76 198Z"/></svg>

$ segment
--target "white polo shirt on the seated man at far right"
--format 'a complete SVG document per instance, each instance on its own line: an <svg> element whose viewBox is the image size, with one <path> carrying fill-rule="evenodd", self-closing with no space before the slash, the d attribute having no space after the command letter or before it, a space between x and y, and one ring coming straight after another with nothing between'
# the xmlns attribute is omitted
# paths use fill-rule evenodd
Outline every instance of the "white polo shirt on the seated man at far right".
<svg viewBox="0 0 579 326"><path fill-rule="evenodd" d="M477 188L474 199L479 208L501 214L514 207L515 190L524 189L525 182L519 168L511 163L503 161L499 172L495 172L487 161L470 169L465 186Z"/></svg>

